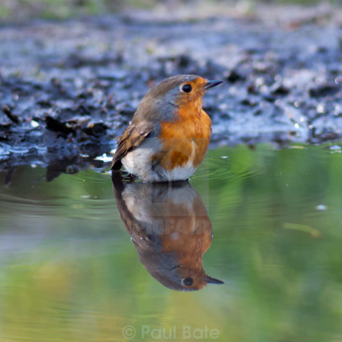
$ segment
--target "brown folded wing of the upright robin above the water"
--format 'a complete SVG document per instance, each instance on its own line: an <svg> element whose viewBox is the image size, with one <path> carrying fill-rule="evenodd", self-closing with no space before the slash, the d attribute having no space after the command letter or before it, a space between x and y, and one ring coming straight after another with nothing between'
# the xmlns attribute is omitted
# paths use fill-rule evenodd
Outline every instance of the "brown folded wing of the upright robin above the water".
<svg viewBox="0 0 342 342"><path fill-rule="evenodd" d="M121 158L126 156L134 147L139 146L152 129L152 123L141 123L138 127L131 123L120 137L111 170L120 169L122 166Z"/></svg>

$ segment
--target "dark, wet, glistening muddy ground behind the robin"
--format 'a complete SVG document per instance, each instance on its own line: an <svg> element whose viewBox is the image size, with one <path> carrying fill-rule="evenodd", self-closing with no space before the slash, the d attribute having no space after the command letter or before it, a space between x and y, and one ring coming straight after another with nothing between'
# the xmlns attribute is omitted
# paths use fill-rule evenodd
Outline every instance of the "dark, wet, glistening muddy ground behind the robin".
<svg viewBox="0 0 342 342"><path fill-rule="evenodd" d="M149 87L176 74L225 81L203 104L212 147L340 139L341 23L323 6L5 24L0 168L88 165L115 148Z"/></svg>

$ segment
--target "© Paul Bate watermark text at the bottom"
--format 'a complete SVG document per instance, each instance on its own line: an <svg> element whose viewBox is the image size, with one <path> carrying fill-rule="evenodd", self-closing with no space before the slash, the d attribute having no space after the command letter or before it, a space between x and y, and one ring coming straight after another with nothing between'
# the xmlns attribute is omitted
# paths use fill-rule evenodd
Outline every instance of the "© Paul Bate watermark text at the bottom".
<svg viewBox="0 0 342 342"><path fill-rule="evenodd" d="M133 326L127 325L122 329L122 335L124 338L130 340L136 335L136 330ZM151 329L148 325L141 326L141 336L139 333L137 335L141 339L150 339L154 340L169 340L169 339L189 339L193 337L196 340L200 339L218 339L220 337L220 331L216 328L209 329L208 326L204 328L195 328L192 329L188 325L183 325L181 331L177 330L174 325L172 328L153 328Z"/></svg>

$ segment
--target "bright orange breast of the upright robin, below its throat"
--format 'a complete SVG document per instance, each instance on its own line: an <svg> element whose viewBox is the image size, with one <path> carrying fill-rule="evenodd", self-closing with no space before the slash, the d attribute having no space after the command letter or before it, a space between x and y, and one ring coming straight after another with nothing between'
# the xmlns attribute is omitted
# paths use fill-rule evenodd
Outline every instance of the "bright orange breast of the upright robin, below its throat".
<svg viewBox="0 0 342 342"><path fill-rule="evenodd" d="M181 112L181 109L180 109ZM211 120L201 110L198 115L179 116L176 122L160 122L159 139L163 144L160 165L165 169L185 167L190 162L197 168L202 162L209 146Z"/></svg>

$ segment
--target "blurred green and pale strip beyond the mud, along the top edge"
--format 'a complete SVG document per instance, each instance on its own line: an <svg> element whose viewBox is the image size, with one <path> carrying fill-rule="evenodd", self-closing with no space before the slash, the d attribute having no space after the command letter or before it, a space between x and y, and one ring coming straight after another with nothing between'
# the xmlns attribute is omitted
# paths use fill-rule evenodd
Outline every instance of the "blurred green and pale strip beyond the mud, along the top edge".
<svg viewBox="0 0 342 342"><path fill-rule="evenodd" d="M182 12L193 16L253 14L260 6L318 5L320 0L1 0L1 21L22 21L30 18L65 19L83 15L101 15L117 12L153 11L154 14ZM324 1L327 5L340 5L339 0ZM196 15L195 15L196 14Z"/></svg>

